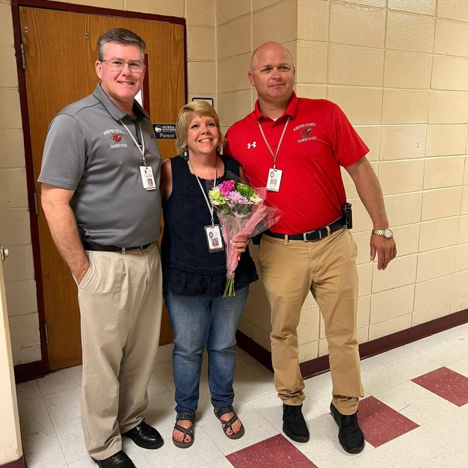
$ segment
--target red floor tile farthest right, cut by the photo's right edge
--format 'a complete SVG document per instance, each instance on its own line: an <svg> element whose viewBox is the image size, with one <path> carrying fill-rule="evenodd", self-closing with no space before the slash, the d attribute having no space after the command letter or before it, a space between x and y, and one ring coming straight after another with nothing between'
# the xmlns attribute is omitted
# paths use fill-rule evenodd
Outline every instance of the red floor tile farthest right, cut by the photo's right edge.
<svg viewBox="0 0 468 468"><path fill-rule="evenodd" d="M463 406L468 403L468 378L446 367L428 372L412 381L454 405Z"/></svg>

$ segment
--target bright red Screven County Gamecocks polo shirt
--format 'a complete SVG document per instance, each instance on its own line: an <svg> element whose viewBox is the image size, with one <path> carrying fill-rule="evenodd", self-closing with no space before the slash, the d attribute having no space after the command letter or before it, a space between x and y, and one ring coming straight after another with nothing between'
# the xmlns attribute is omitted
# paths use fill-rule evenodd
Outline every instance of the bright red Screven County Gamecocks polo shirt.
<svg viewBox="0 0 468 468"><path fill-rule="evenodd" d="M226 134L224 153L245 169L253 187L266 187L273 156L258 124L276 153L284 125L291 116L276 158L283 175L279 192L268 199L284 215L271 228L282 234L299 234L330 224L341 216L346 194L340 166L351 166L369 152L343 111L326 99L297 98L275 121L254 112L235 122Z"/></svg>

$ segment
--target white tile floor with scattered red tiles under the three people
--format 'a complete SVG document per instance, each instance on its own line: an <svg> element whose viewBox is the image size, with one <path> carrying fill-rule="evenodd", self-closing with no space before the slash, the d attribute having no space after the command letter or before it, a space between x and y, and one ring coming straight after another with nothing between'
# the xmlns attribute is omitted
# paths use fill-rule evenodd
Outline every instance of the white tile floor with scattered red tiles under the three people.
<svg viewBox="0 0 468 468"><path fill-rule="evenodd" d="M365 398L359 421L362 453L346 453L329 414L330 373L305 381L307 444L281 432L282 410L273 374L237 351L234 406L245 436L224 436L210 404L206 365L200 385L195 444L171 443L174 424L172 346L159 349L146 419L166 443L144 450L128 439L124 449L137 468L418 468L468 467L468 324L362 361ZM96 467L84 447L79 421L80 366L19 384L23 451L28 468Z"/></svg>

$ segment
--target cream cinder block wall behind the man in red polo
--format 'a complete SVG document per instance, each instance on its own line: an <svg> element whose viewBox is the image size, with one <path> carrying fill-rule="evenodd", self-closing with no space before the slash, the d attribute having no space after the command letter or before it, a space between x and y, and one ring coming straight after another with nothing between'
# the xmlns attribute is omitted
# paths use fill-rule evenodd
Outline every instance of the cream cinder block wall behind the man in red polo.
<svg viewBox="0 0 468 468"><path fill-rule="evenodd" d="M370 147L398 257L369 261L371 222L350 177L358 245L359 340L468 308L468 1L217 0L218 112L227 128L256 99L246 74L265 40L288 47L296 92L342 107ZM240 330L270 349L260 282ZM309 295L300 360L328 353Z"/></svg>

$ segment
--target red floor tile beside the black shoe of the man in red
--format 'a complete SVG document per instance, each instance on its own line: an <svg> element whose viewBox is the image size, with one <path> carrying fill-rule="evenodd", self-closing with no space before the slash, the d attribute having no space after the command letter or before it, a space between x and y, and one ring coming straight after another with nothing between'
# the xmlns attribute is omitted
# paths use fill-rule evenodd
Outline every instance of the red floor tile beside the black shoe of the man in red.
<svg viewBox="0 0 468 468"><path fill-rule="evenodd" d="M359 426L364 432L364 438L374 447L419 427L373 396L361 400L358 411Z"/></svg>

